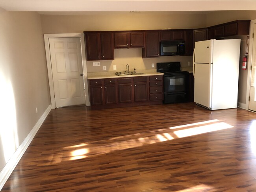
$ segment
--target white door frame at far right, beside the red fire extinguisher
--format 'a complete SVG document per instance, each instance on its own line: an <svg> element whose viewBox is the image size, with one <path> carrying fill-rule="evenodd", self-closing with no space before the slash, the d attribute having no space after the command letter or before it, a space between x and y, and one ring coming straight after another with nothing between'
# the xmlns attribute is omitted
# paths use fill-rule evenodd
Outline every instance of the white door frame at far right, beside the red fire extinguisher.
<svg viewBox="0 0 256 192"><path fill-rule="evenodd" d="M245 100L245 109L249 110L249 96L250 96L250 78L251 72L250 70L252 66L252 46L253 46L253 31L254 31L254 24L256 24L256 19L250 21L250 38L249 38L249 54L248 54L248 66L247 66L247 89L246 89L246 100ZM256 34L255 34L256 35ZM256 36L255 36L256 38Z"/></svg>

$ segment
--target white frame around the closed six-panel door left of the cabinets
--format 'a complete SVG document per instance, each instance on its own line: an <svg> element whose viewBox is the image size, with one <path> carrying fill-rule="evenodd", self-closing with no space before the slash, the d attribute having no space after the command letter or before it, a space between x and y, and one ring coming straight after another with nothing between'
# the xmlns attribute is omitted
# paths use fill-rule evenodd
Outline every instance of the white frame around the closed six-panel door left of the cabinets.
<svg viewBox="0 0 256 192"><path fill-rule="evenodd" d="M82 52L82 65L83 65L83 79L84 79L84 88L85 88L85 105L89 106L90 105L89 89L88 89L86 59L85 59L85 43L84 43L85 41L84 41L83 33L56 33L56 34L44 34L46 63L47 63L47 70L48 70L48 79L49 79L52 109L56 108L56 103L55 103L55 96L54 96L52 62L51 62L51 57L50 57L49 38L61 38L61 37L79 37L80 38L81 52Z"/></svg>

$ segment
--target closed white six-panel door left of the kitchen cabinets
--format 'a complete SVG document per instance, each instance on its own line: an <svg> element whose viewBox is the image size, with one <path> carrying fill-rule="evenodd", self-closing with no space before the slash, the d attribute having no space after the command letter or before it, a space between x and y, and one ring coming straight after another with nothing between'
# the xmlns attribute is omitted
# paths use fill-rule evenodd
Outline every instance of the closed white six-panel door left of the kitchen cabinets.
<svg viewBox="0 0 256 192"><path fill-rule="evenodd" d="M80 38L49 38L56 107L85 104Z"/></svg>

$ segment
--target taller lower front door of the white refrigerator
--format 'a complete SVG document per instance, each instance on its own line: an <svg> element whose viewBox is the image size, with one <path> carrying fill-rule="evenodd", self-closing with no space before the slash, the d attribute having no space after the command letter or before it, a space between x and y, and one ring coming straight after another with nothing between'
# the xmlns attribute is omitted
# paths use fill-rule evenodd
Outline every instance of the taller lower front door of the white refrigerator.
<svg viewBox="0 0 256 192"><path fill-rule="evenodd" d="M194 65L194 101L211 109L212 64L194 63Z"/></svg>

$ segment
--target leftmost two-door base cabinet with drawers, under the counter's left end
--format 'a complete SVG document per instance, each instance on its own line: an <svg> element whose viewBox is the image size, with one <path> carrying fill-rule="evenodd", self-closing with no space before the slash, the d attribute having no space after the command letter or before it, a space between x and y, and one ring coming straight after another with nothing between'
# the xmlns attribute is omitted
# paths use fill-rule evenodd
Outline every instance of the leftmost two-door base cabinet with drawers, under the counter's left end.
<svg viewBox="0 0 256 192"><path fill-rule="evenodd" d="M116 79L89 80L89 85L91 105L117 103Z"/></svg>

